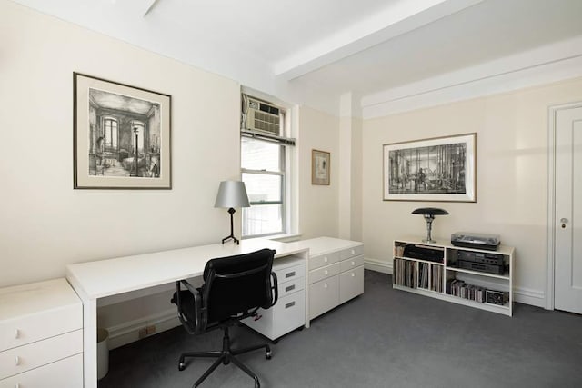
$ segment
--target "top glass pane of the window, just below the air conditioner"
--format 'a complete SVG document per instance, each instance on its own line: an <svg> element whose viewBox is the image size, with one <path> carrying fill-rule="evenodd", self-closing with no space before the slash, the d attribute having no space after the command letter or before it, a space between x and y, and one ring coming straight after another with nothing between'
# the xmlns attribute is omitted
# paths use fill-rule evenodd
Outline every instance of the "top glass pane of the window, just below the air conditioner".
<svg viewBox="0 0 582 388"><path fill-rule="evenodd" d="M241 166L246 170L281 171L284 145L241 137Z"/></svg>

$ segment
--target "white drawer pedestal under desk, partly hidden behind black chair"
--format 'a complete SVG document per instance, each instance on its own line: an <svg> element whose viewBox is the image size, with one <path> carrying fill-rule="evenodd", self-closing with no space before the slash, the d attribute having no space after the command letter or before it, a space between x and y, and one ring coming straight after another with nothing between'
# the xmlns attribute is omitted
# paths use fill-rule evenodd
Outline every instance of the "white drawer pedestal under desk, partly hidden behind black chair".
<svg viewBox="0 0 582 388"><path fill-rule="evenodd" d="M248 327L276 340L306 324L306 261L300 257L276 259L279 299L268 310L259 309L256 318L243 320Z"/></svg>

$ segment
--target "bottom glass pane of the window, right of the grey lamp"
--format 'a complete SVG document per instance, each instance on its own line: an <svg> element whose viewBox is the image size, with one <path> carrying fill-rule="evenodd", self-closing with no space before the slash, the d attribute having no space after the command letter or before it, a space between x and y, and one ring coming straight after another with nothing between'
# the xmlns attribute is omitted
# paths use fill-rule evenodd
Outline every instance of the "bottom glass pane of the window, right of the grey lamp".
<svg viewBox="0 0 582 388"><path fill-rule="evenodd" d="M283 232L283 205L258 204L243 208L243 235Z"/></svg>

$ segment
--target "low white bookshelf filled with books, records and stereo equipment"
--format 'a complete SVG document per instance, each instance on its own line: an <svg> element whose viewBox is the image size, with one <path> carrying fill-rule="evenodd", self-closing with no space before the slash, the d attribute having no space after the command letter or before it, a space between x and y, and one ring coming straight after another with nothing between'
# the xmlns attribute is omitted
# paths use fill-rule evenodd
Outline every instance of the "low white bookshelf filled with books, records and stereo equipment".
<svg viewBox="0 0 582 388"><path fill-rule="evenodd" d="M500 245L489 251L444 241L395 240L393 287L511 316L514 248ZM468 262L467 257L478 260Z"/></svg>

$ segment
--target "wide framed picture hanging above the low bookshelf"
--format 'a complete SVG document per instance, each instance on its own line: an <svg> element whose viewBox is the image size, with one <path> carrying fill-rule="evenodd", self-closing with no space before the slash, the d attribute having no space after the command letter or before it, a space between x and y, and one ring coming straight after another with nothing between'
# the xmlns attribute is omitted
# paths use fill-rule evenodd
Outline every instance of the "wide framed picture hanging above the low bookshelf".
<svg viewBox="0 0 582 388"><path fill-rule="evenodd" d="M384 144L384 200L477 202L477 134Z"/></svg>

